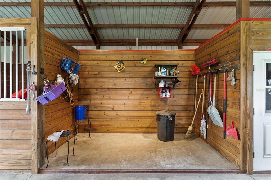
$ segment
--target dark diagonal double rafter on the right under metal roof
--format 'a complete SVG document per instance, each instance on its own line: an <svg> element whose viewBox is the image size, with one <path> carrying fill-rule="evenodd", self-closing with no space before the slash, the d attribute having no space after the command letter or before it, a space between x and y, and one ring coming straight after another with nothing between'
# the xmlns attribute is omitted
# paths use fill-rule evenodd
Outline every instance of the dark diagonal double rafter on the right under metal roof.
<svg viewBox="0 0 271 180"><path fill-rule="evenodd" d="M189 32L191 31L193 25L195 24L195 21L204 5L206 0L202 0L200 2L200 0L196 0L195 1L195 4L188 16L188 19L185 23L185 26L182 28L179 36L178 36L178 39L177 39L177 44L182 46L183 42L185 41L185 39L187 38Z"/></svg>

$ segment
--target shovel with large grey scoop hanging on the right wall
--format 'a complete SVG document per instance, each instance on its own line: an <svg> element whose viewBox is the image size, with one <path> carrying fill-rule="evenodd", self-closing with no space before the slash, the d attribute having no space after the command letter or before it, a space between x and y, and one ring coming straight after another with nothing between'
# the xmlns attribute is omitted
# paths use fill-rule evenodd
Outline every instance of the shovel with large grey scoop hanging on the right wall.
<svg viewBox="0 0 271 180"><path fill-rule="evenodd" d="M219 112L217 111L217 108L215 108L215 90L216 90L216 82L217 82L217 72L215 72L215 79L214 79L214 96L213 101L211 101L211 106L208 107L207 111L209 116L211 117L213 123L217 126L220 126L223 128L223 122L219 115Z"/></svg>

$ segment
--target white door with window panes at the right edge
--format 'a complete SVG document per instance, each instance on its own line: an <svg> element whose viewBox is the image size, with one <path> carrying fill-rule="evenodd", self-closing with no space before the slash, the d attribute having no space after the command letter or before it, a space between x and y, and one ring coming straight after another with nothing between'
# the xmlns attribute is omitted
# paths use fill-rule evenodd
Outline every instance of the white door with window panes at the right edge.
<svg viewBox="0 0 271 180"><path fill-rule="evenodd" d="M271 52L253 52L253 170L271 171Z"/></svg>

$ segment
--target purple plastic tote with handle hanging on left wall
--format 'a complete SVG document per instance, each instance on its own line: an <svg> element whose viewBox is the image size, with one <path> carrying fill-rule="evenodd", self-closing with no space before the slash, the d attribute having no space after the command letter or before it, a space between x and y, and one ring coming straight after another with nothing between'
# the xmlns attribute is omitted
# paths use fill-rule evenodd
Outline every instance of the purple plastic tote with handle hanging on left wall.
<svg viewBox="0 0 271 180"><path fill-rule="evenodd" d="M50 88L47 89L46 87ZM38 96L36 100L44 105L49 101L56 99L64 91L66 91L66 87L63 82L61 82L57 86L49 84L43 87L43 94Z"/></svg>

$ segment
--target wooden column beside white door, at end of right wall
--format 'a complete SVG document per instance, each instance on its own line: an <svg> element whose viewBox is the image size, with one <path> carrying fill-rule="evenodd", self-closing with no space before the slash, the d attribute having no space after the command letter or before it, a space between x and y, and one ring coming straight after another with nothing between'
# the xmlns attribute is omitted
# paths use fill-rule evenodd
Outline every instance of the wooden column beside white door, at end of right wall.
<svg viewBox="0 0 271 180"><path fill-rule="evenodd" d="M252 22L241 21L240 22L240 169L242 171L247 170L247 125L249 124L248 119L248 102L251 98L248 97L247 92L251 91L248 89L247 82L247 69L248 67L248 56L249 46L252 45ZM250 107L251 108L251 107ZM251 111L250 111L251 112ZM250 137L251 138L251 137Z"/></svg>

